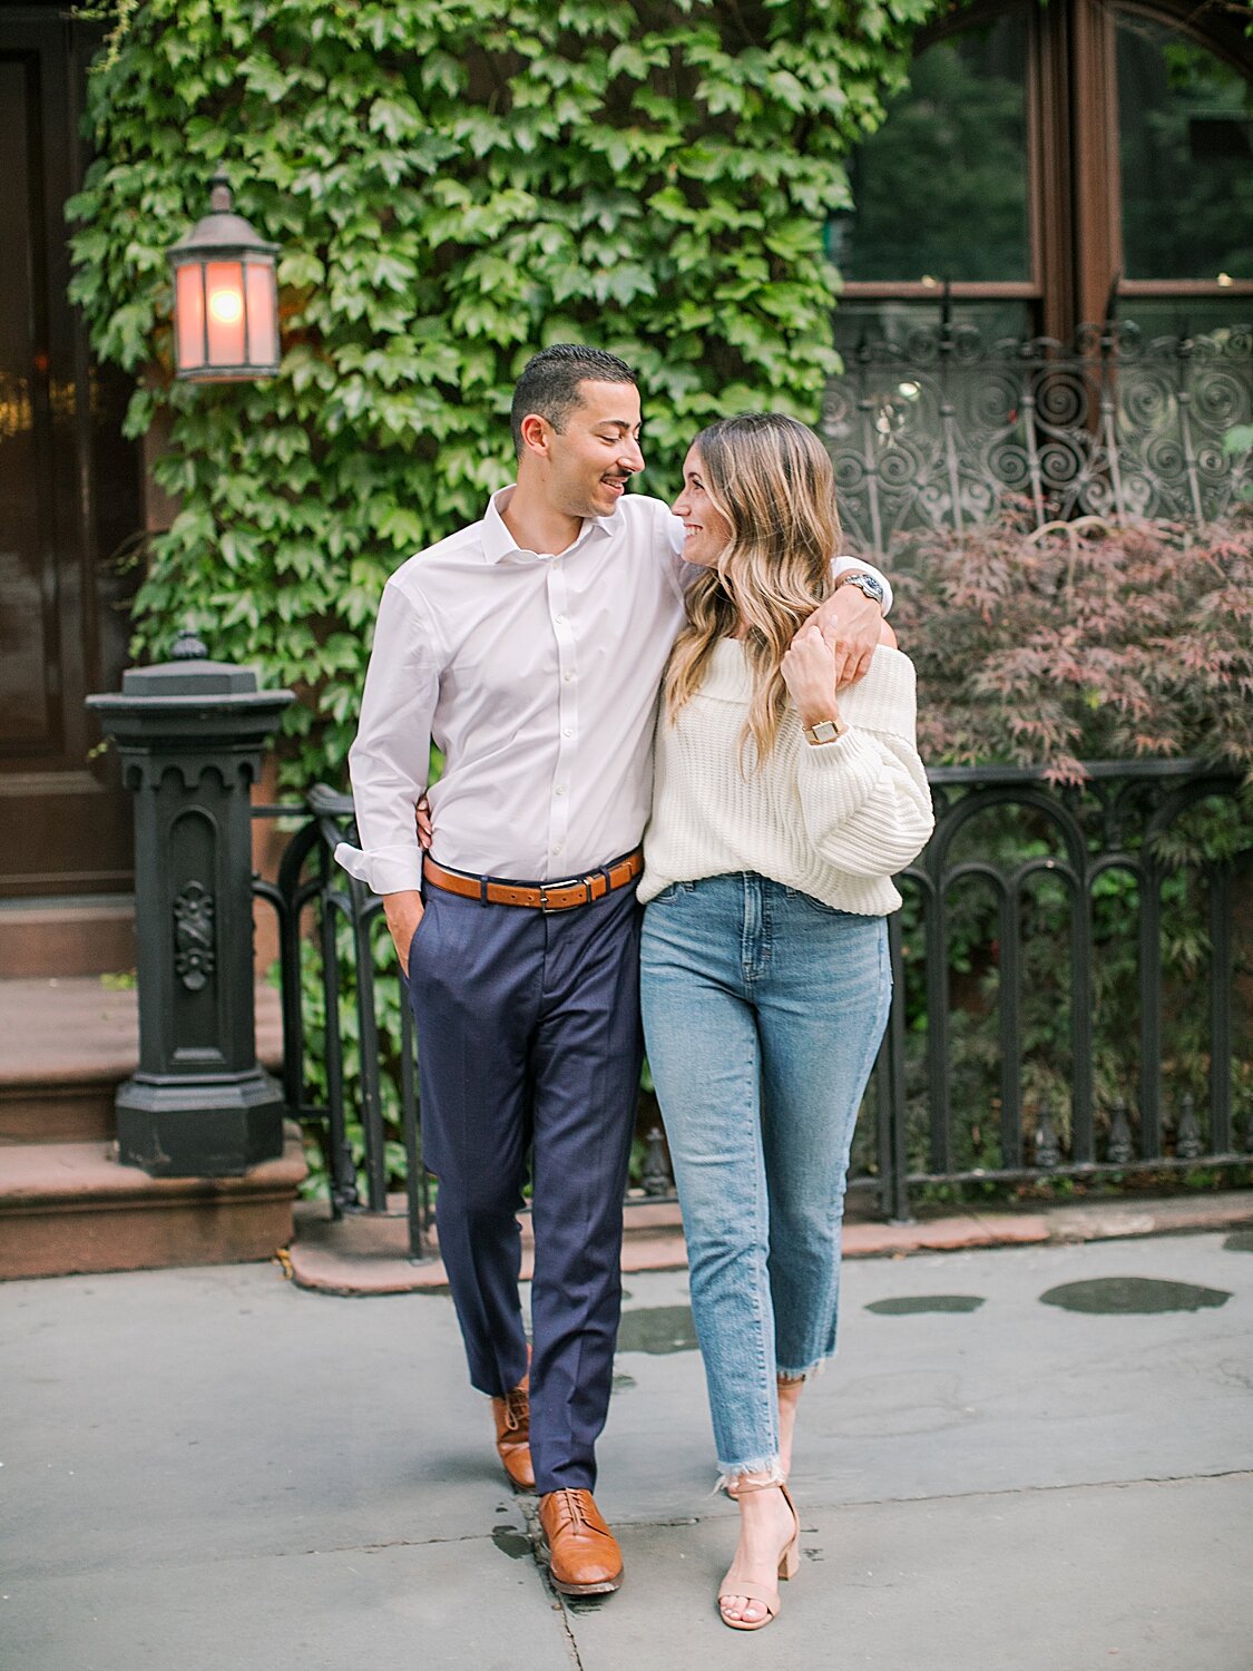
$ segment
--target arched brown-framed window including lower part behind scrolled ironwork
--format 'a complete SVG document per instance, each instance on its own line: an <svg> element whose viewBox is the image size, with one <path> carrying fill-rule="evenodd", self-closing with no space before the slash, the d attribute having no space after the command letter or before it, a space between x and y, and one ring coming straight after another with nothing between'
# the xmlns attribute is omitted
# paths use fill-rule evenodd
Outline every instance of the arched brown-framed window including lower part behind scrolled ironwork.
<svg viewBox="0 0 1253 1671"><path fill-rule="evenodd" d="M829 219L827 394L854 543L1037 520L1220 515L1250 481L1253 53L1185 0L976 0Z"/></svg>

